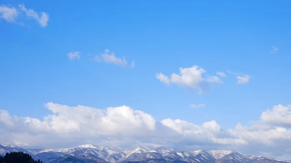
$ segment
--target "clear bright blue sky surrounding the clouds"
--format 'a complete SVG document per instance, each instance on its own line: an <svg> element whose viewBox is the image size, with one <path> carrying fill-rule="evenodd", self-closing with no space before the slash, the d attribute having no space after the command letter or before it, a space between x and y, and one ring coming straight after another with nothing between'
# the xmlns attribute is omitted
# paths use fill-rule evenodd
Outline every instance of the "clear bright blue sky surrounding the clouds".
<svg viewBox="0 0 291 163"><path fill-rule="evenodd" d="M36 13L29 15L19 4ZM53 114L44 107L50 102L100 109L126 105L157 121L201 126L215 120L227 130L260 123L268 108L291 104L289 0L2 0L0 6L0 109L10 116L43 120ZM13 21L4 8L16 9ZM128 65L94 59L105 49ZM68 58L74 52L79 59ZM209 82L212 89L200 95L156 77L194 65L223 83ZM250 78L239 84L240 75Z"/></svg>

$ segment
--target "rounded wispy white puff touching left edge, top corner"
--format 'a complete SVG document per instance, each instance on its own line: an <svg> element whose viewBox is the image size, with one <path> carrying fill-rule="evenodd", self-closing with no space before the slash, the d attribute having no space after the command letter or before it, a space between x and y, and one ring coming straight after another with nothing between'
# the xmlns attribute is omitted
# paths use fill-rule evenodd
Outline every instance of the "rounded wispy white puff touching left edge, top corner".
<svg viewBox="0 0 291 163"><path fill-rule="evenodd" d="M12 6L0 6L0 17L5 19L8 22L15 22L18 12L15 7Z"/></svg>

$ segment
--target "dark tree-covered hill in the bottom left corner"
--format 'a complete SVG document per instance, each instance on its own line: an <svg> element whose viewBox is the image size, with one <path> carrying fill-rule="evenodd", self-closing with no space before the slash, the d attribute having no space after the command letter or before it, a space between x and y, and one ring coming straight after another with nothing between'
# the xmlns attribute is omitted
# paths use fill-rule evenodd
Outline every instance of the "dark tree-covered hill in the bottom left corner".
<svg viewBox="0 0 291 163"><path fill-rule="evenodd" d="M0 156L0 163L42 163L38 159L35 161L32 156L23 152L11 152L6 153L4 157Z"/></svg>

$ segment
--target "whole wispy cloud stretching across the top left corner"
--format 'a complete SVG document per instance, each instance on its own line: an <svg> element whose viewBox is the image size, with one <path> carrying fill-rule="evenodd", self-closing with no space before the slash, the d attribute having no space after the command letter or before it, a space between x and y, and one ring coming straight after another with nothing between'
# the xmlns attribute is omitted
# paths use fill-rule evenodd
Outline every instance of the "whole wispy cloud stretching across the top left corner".
<svg viewBox="0 0 291 163"><path fill-rule="evenodd" d="M40 26L46 27L49 21L49 15L45 12L37 13L32 9L25 8L24 4L18 4L19 8L15 8L10 5L0 5L0 17L8 22L15 22L19 25L23 23L17 22L16 19L20 19L20 16L24 13L29 18L35 19Z"/></svg>

